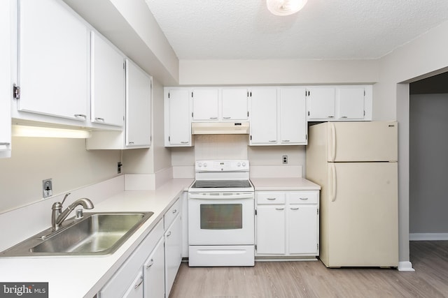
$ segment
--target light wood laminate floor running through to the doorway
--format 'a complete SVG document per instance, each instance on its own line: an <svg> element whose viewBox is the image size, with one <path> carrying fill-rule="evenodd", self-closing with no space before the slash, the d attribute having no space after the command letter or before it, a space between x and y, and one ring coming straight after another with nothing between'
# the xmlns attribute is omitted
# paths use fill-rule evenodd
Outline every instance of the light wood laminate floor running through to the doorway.
<svg viewBox="0 0 448 298"><path fill-rule="evenodd" d="M255 267L188 267L169 298L448 297L448 241L411 241L416 271L328 269L320 261L255 262Z"/></svg>

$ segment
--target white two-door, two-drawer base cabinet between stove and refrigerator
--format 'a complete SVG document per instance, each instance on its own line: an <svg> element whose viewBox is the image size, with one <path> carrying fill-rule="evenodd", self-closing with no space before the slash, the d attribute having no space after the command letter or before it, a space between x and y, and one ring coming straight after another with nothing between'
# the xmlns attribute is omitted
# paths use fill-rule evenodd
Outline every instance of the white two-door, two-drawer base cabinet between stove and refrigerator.
<svg viewBox="0 0 448 298"><path fill-rule="evenodd" d="M256 256L318 255L318 191L257 191Z"/></svg>

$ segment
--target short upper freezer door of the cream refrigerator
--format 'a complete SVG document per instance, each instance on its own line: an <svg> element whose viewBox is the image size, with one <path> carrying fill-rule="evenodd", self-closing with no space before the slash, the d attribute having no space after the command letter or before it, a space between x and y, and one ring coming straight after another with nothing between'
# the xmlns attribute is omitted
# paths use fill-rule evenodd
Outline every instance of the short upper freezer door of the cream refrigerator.
<svg viewBox="0 0 448 298"><path fill-rule="evenodd" d="M397 161L396 121L328 122L328 161Z"/></svg>

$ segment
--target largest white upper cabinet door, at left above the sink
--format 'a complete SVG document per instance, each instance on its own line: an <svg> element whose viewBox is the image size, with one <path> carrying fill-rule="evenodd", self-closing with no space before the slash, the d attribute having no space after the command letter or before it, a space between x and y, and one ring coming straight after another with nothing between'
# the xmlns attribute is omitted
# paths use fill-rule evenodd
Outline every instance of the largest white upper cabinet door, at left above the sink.
<svg viewBox="0 0 448 298"><path fill-rule="evenodd" d="M62 1L20 0L18 110L85 121L88 30Z"/></svg>

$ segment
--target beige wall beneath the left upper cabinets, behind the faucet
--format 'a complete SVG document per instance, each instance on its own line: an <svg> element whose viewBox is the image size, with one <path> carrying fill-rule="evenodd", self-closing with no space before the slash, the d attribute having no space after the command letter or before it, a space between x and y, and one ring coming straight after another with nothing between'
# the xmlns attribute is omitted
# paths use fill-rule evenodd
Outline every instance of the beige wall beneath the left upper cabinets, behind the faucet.
<svg viewBox="0 0 448 298"><path fill-rule="evenodd" d="M0 159L0 214L42 201L42 180L53 195L118 176L121 151L85 149L85 139L13 137L10 158Z"/></svg>

